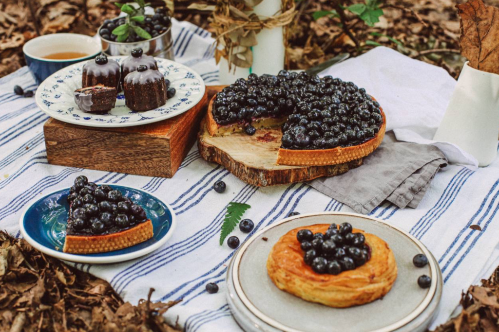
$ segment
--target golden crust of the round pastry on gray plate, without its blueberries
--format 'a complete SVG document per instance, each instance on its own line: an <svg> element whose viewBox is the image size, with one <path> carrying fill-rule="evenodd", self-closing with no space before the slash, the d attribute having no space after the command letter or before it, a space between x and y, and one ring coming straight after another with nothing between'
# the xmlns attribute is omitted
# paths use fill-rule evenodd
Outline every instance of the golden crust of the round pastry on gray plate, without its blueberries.
<svg viewBox="0 0 499 332"><path fill-rule="evenodd" d="M376 235L360 229L371 248L371 259L355 270L338 275L318 274L303 261L303 251L296 239L300 229L325 232L329 224L298 227L282 236L267 259L267 272L281 290L303 300L335 308L346 308L372 302L385 296L397 278L397 264L388 244Z"/></svg>

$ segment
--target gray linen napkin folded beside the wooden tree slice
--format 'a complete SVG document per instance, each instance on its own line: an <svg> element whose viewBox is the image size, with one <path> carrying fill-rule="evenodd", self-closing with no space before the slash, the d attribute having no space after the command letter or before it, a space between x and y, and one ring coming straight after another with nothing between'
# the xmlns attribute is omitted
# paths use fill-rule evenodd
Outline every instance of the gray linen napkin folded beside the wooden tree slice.
<svg viewBox="0 0 499 332"><path fill-rule="evenodd" d="M308 184L321 193L368 214L387 200L399 208L417 208L440 168L447 166L442 151L432 145L397 142L391 132L362 166L345 174Z"/></svg>

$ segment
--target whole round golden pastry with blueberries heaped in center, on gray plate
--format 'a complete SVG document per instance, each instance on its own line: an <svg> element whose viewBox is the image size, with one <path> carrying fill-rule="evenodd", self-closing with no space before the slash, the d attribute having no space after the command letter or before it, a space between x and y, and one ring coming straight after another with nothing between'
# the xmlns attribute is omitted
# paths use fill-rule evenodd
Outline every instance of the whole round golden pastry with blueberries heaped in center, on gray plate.
<svg viewBox="0 0 499 332"><path fill-rule="evenodd" d="M395 256L388 244L351 226L350 235L336 225L329 227L299 227L282 236L267 259L272 282L303 300L335 308L385 296L397 278Z"/></svg>

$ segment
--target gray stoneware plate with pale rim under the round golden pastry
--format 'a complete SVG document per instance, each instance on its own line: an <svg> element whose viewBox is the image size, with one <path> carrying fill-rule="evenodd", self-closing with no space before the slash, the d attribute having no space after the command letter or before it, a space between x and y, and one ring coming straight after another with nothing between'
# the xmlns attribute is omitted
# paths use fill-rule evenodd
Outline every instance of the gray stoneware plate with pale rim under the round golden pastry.
<svg viewBox="0 0 499 332"><path fill-rule="evenodd" d="M304 301L279 290L267 275L267 256L289 230L316 223L350 222L388 243L395 254L398 276L382 299L337 309ZM262 238L266 237L267 240ZM429 264L417 268L412 258L423 253ZM432 278L428 289L418 286L422 274ZM442 275L430 251L404 230L357 214L317 213L287 218L255 233L231 261L227 274L228 302L240 326L248 332L419 332L438 311Z"/></svg>

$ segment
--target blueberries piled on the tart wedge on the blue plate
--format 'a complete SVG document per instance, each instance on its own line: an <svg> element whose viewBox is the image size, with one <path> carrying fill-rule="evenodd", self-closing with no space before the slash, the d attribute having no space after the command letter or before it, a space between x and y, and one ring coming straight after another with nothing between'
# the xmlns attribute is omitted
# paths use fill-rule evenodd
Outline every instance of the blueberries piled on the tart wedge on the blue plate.
<svg viewBox="0 0 499 332"><path fill-rule="evenodd" d="M146 212L120 191L81 175L69 189L68 234L110 234L147 221Z"/></svg>

